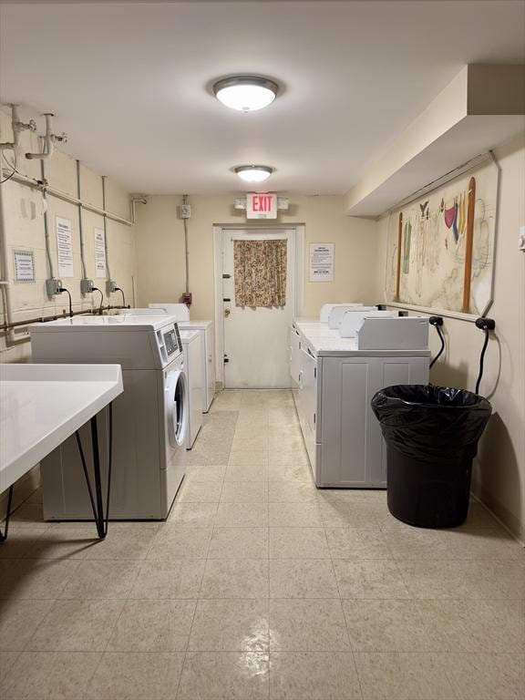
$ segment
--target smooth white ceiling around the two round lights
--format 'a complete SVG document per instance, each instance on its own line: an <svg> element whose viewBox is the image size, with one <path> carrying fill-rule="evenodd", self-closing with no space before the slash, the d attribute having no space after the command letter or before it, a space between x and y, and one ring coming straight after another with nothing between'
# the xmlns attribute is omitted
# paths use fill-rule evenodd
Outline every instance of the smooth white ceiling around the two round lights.
<svg viewBox="0 0 525 700"><path fill-rule="evenodd" d="M133 192L345 192L467 63L525 62L523 0L10 2L2 102L57 114L68 151ZM282 95L242 114L214 79ZM42 123L40 121L40 125ZM244 189L250 189L245 186Z"/></svg>

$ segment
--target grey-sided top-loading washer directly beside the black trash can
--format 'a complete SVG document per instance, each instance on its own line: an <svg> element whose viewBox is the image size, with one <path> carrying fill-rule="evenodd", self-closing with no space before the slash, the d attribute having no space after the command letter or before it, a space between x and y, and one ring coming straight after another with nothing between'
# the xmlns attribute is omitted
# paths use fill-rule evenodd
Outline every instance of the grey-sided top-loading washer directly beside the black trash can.
<svg viewBox="0 0 525 700"><path fill-rule="evenodd" d="M290 330L293 398L315 484L386 488L386 446L372 396L385 386L427 384L427 351L317 355L311 340Z"/></svg>

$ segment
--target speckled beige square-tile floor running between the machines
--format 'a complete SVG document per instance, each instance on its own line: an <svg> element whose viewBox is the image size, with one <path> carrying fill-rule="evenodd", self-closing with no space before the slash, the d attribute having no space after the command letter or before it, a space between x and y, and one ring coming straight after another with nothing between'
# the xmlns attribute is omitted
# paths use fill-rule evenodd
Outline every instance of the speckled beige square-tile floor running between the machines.
<svg viewBox="0 0 525 700"><path fill-rule="evenodd" d="M316 490L289 392L222 392L166 523L41 521L0 547L3 700L518 700L523 550L382 491Z"/></svg>

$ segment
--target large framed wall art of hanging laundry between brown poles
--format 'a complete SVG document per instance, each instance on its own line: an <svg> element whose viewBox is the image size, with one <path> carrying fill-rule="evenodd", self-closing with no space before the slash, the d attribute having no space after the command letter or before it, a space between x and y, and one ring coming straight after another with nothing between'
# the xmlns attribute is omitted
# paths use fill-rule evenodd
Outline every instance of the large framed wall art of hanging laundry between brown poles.
<svg viewBox="0 0 525 700"><path fill-rule="evenodd" d="M480 165L388 221L386 300L481 315L492 302L499 168Z"/></svg>

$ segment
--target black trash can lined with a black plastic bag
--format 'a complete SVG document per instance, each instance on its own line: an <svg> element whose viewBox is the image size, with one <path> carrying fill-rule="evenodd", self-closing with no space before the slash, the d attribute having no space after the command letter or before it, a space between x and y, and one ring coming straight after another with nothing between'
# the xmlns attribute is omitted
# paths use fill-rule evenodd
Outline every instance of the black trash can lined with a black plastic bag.
<svg viewBox="0 0 525 700"><path fill-rule="evenodd" d="M420 528L460 525L489 401L463 389L396 385L378 391L372 409L386 440L388 510Z"/></svg>

